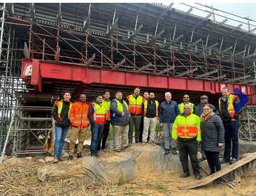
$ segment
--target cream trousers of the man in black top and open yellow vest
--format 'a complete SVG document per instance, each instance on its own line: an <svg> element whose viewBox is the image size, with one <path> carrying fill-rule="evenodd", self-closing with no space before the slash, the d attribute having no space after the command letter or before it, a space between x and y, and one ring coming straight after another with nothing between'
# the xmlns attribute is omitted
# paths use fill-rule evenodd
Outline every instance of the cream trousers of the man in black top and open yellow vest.
<svg viewBox="0 0 256 196"><path fill-rule="evenodd" d="M151 132L150 132L150 142L154 142L155 140L155 128L157 127L157 117L155 118L148 118L144 117L144 130L142 136L142 142L147 142L148 140L148 128L151 125Z"/></svg>

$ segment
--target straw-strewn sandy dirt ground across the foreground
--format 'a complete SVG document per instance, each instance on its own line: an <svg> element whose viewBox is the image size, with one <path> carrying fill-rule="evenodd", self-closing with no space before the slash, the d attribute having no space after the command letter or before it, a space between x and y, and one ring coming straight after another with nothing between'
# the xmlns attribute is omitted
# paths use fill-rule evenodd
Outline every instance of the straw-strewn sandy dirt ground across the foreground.
<svg viewBox="0 0 256 196"><path fill-rule="evenodd" d="M83 153L88 154L89 149ZM240 142L239 155L256 151L255 142ZM109 152L106 152L109 153ZM85 179L59 179L38 181L38 168L52 163L40 163L36 158L27 158L26 164L0 165L0 195L256 195L256 176L242 177L235 189L223 182L191 190L177 188L183 183L196 181L194 175L180 179L180 174L139 174L136 179L120 184L90 181ZM202 178L207 174L202 171Z"/></svg>

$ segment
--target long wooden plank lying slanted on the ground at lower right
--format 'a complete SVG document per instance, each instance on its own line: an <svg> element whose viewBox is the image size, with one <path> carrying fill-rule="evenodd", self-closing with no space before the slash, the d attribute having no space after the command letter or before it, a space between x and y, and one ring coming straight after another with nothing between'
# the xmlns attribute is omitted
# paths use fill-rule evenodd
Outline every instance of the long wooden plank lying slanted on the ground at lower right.
<svg viewBox="0 0 256 196"><path fill-rule="evenodd" d="M185 183L182 186L178 186L181 190L187 190L191 188L196 188L199 186L204 186L211 181L218 179L221 176L224 176L225 174L232 172L234 169L237 169L241 167L242 165L245 165L246 163L249 163L252 160L255 160L256 153L251 154L250 156L247 156L246 158L243 158L242 160L237 161L236 163L229 165L225 167L224 169L221 169L219 172L216 172L215 174L212 174L211 176L207 176L204 179L201 179L199 181L194 181L192 183Z"/></svg>

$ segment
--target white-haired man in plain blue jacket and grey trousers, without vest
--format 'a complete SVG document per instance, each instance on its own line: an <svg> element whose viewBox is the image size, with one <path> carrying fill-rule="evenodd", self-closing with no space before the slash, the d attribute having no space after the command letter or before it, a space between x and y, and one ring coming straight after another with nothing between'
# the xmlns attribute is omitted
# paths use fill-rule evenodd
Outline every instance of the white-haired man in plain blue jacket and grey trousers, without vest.
<svg viewBox="0 0 256 196"><path fill-rule="evenodd" d="M174 100L171 100L170 92L165 93L165 99L166 100L159 105L159 123L160 127L164 127L164 154L168 155L170 153L170 135L172 153L177 154L176 143L172 138L171 132L176 116L180 115L180 110L178 110L178 103L176 103Z"/></svg>

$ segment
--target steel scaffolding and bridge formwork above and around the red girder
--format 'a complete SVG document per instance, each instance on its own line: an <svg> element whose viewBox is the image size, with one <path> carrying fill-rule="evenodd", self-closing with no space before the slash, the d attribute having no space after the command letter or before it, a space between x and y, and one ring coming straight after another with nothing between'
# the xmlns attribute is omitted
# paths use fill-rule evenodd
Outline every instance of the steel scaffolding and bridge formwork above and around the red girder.
<svg viewBox="0 0 256 196"><path fill-rule="evenodd" d="M191 14L193 9L178 10L173 3L0 3L0 151L12 115L11 154L31 153L35 138L45 142L54 126L50 108L64 91L71 91L72 100L83 92L91 101L106 88L105 84L85 84L76 79L31 80L32 66L24 64L24 59L58 63L61 67L49 70L55 75L62 75L62 68L72 65L156 78L163 75L173 80L221 82L222 86L237 86L247 95L254 94L256 26L250 22L255 21L243 20L232 27L225 24L230 18L211 20L213 10L201 17ZM242 29L243 24L248 30ZM36 85L38 82L41 85ZM131 92L129 86L119 87L124 96ZM116 86L108 88L114 90ZM163 91L157 89L158 100ZM184 92L172 92L174 100L181 100ZM220 97L220 91L211 93L213 98ZM38 117L38 113L43 116ZM252 141L255 128L249 116L250 112L243 111L240 136Z"/></svg>

